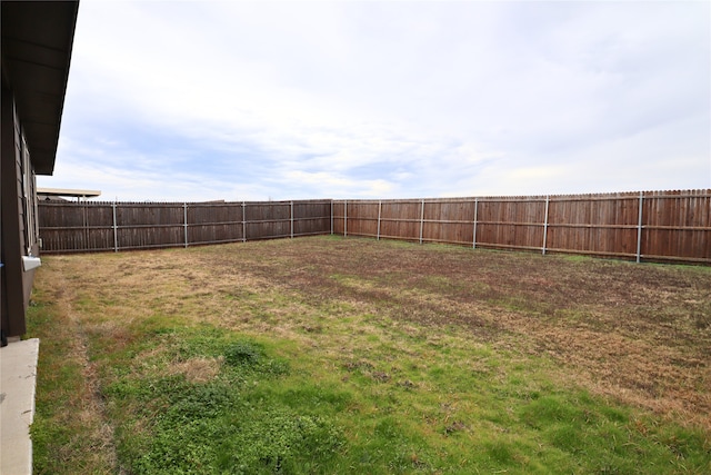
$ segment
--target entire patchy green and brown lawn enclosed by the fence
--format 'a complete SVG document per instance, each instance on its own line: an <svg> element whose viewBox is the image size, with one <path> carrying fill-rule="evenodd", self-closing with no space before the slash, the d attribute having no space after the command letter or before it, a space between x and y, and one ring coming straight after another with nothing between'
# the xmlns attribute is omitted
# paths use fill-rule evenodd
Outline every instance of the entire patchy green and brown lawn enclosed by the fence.
<svg viewBox="0 0 711 475"><path fill-rule="evenodd" d="M42 263L37 473L711 473L708 267L339 237Z"/></svg>

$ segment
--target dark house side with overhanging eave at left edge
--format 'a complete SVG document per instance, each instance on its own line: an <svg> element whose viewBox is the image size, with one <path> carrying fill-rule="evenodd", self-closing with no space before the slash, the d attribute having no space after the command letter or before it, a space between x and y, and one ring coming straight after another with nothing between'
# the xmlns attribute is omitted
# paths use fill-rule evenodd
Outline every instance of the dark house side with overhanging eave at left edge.
<svg viewBox="0 0 711 475"><path fill-rule="evenodd" d="M34 175L54 169L79 2L0 6L0 329L17 337L26 333L34 277L22 256L39 251Z"/></svg>

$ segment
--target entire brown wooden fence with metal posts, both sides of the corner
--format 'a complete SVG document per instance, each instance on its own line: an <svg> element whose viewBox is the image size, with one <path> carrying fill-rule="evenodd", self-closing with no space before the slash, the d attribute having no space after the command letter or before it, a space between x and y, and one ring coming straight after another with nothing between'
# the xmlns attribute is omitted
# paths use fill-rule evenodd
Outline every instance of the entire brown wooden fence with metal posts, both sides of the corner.
<svg viewBox="0 0 711 475"><path fill-rule="evenodd" d="M711 264L711 189L404 200L40 201L39 222L43 253L337 234Z"/></svg>

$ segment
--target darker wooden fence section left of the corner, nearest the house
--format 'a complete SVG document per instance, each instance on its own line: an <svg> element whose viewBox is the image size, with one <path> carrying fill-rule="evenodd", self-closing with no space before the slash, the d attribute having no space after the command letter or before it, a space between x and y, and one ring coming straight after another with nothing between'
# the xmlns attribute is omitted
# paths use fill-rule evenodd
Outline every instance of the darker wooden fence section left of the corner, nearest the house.
<svg viewBox="0 0 711 475"><path fill-rule="evenodd" d="M331 232L331 200L38 205L42 253L188 247Z"/></svg>

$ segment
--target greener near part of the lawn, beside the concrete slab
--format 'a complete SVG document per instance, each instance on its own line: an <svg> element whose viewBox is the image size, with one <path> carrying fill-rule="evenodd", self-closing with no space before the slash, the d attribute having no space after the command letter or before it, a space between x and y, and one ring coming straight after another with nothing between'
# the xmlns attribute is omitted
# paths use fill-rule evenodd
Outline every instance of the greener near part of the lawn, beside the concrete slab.
<svg viewBox="0 0 711 475"><path fill-rule="evenodd" d="M161 259L171 254L184 256ZM120 267L121 256L94 259ZM382 296L367 305L314 300L241 283L210 291L207 308L203 289L192 295L172 283L168 296L132 307L134 295L116 285L57 298L61 283L52 278L71 279L78 267L47 260L29 331L41 338L37 473L711 471L702 428L593 395L561 378L544 354L477 338L455 323L403 324L379 311L389 308ZM331 279L375 287L357 275ZM178 296L183 305L173 311ZM528 308L517 298L492 305ZM196 318L234 306L229 318ZM72 418L87 405L90 416Z"/></svg>

